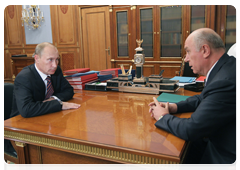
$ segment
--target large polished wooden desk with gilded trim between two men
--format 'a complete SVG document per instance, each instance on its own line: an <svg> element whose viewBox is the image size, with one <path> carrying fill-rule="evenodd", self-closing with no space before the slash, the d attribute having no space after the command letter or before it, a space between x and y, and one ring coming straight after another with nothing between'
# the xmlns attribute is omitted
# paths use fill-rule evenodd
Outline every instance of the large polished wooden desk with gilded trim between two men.
<svg viewBox="0 0 240 170"><path fill-rule="evenodd" d="M4 138L15 141L21 170L180 169L187 143L154 126L153 96L82 91L71 100L79 109L4 121Z"/></svg>

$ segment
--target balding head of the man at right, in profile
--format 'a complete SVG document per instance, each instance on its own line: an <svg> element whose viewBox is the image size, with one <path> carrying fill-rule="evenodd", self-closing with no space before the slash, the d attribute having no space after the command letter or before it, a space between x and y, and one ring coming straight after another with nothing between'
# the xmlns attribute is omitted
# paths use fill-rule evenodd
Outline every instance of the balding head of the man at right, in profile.
<svg viewBox="0 0 240 170"><path fill-rule="evenodd" d="M221 37L210 28L192 32L185 41L185 62L195 74L207 75L210 68L225 53Z"/></svg>

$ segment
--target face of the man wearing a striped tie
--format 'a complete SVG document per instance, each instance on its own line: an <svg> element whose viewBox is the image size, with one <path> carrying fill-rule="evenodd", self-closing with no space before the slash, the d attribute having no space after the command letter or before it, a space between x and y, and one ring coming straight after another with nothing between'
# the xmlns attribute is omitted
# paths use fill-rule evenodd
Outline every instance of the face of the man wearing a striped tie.
<svg viewBox="0 0 240 170"><path fill-rule="evenodd" d="M37 68L44 74L54 74L59 62L58 50L54 47L46 46L42 52L41 57L35 55Z"/></svg>

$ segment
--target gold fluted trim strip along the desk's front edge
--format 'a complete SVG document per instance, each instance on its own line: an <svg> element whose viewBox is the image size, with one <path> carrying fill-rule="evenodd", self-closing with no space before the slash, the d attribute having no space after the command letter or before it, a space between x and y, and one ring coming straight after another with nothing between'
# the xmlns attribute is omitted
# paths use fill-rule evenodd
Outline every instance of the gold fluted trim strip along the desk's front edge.
<svg viewBox="0 0 240 170"><path fill-rule="evenodd" d="M142 156L122 151L114 151L110 149L104 149L95 146L87 146L84 144L76 144L66 141L60 141L56 139L48 139L44 137L23 134L13 131L4 130L4 137L7 139L14 139L26 143L40 144L46 147L53 147L60 150L67 150L82 155L88 155L91 157L98 157L100 159L108 159L113 162L122 162L126 164L135 164L144 167L151 168L164 168L179 170L181 162L164 160L153 158L149 156Z"/></svg>

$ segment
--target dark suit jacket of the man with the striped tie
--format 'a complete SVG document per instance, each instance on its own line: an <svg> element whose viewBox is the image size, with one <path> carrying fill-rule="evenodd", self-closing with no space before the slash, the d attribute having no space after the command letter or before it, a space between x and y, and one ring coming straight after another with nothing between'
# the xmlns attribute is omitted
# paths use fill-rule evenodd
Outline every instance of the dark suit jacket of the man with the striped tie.
<svg viewBox="0 0 240 170"><path fill-rule="evenodd" d="M51 79L54 96L62 101L73 97L73 88L63 77L59 66L51 75ZM45 98L45 90L45 84L34 64L24 67L14 81L11 117L19 114L23 117L33 117L62 110L62 106L57 100L42 102Z"/></svg>

